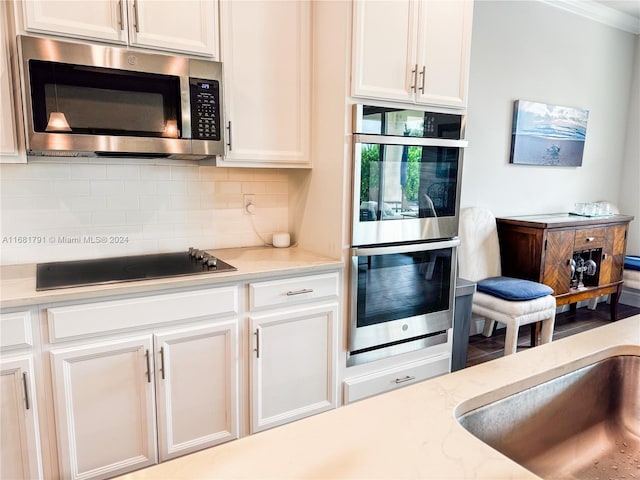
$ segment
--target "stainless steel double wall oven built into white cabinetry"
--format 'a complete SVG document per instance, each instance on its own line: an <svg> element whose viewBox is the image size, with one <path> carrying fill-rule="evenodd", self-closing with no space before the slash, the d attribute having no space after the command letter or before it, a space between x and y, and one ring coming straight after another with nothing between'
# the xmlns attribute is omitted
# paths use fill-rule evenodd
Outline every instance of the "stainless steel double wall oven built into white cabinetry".
<svg viewBox="0 0 640 480"><path fill-rule="evenodd" d="M350 365L447 341L464 123L354 107Z"/></svg>

